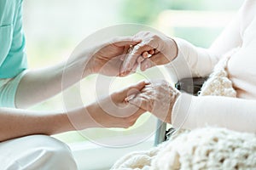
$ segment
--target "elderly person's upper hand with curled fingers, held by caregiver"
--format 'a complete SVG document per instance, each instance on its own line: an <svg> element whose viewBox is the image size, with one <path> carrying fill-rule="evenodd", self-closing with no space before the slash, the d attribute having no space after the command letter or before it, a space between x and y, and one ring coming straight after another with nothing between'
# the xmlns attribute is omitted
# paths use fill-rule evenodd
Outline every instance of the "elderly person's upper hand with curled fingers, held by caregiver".
<svg viewBox="0 0 256 170"><path fill-rule="evenodd" d="M154 65L165 65L177 56L177 44L171 37L156 34L150 31L138 32L133 40L138 43L127 54L121 68L121 76L130 74L140 65L141 70L145 71Z"/></svg>

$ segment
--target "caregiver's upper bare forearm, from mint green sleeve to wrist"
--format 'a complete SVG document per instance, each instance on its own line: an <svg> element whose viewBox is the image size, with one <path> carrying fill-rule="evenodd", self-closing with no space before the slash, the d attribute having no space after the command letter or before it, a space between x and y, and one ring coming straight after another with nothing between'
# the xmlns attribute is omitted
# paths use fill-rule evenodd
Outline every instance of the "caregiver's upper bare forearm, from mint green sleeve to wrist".
<svg viewBox="0 0 256 170"><path fill-rule="evenodd" d="M49 99L75 82L90 74L86 65L87 59L73 59L61 62L44 69L28 71L21 79L15 95L17 108L27 108L31 105Z"/></svg>

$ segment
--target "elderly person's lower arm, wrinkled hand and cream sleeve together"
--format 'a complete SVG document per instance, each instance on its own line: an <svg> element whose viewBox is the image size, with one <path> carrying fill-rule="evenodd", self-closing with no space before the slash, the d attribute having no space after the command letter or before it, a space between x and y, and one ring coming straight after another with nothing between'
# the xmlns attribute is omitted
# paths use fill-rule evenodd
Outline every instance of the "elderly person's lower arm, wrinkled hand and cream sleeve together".
<svg viewBox="0 0 256 170"><path fill-rule="evenodd" d="M252 99L195 97L180 93L168 82L161 81L146 85L140 94L126 100L177 128L214 126L256 132L256 100Z"/></svg>

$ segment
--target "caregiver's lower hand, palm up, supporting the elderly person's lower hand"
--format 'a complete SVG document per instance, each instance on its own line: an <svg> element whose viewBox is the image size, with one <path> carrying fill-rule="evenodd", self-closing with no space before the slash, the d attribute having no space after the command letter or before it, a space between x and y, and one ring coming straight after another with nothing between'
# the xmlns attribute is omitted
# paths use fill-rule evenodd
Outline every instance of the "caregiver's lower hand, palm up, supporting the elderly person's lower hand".
<svg viewBox="0 0 256 170"><path fill-rule="evenodd" d="M128 95L139 93L147 84L139 82L101 99L90 106L90 116L100 127L131 127L145 111L125 99Z"/></svg>

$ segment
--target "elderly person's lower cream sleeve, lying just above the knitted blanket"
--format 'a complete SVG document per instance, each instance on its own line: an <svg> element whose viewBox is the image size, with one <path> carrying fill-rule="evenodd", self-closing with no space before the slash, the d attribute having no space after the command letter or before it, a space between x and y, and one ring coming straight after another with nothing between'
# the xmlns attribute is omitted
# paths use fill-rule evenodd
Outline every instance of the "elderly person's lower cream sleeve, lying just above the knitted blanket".
<svg viewBox="0 0 256 170"><path fill-rule="evenodd" d="M172 109L172 125L196 127L227 127L256 133L256 100L221 96L195 97L181 94Z"/></svg>

